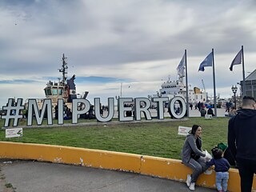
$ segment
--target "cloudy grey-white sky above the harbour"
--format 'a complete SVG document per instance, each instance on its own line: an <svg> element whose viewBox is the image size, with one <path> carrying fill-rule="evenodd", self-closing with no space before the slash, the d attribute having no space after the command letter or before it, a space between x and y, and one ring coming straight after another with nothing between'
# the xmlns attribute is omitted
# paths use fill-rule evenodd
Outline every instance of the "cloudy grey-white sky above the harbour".
<svg viewBox="0 0 256 192"><path fill-rule="evenodd" d="M213 70L198 66L214 49L216 93L230 97L242 65L229 70L244 46L246 76L256 61L254 0L2 0L0 106L8 98L44 98L58 82L62 54L68 77L88 99L147 97L177 78L187 50L188 82L213 95Z"/></svg>

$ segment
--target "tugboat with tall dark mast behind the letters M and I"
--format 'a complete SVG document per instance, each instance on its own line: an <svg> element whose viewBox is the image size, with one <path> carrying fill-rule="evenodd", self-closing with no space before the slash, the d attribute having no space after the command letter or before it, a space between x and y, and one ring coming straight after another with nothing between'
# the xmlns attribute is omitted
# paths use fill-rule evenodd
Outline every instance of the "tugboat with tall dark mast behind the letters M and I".
<svg viewBox="0 0 256 192"><path fill-rule="evenodd" d="M83 95L77 94L76 87L74 84L75 75L73 75L70 79L67 79L67 63L65 61L65 55L62 57L62 69L58 69L60 73L62 73L62 78L58 78L58 82L49 81L46 83L46 88L44 88L46 98L50 98L54 107L57 105L58 98L62 98L69 108L72 109L72 100L74 98L86 98L89 94L88 91L85 91ZM38 98L38 108L42 109L42 104L45 98ZM27 103L27 102L26 102ZM25 104L26 106L26 104Z"/></svg>

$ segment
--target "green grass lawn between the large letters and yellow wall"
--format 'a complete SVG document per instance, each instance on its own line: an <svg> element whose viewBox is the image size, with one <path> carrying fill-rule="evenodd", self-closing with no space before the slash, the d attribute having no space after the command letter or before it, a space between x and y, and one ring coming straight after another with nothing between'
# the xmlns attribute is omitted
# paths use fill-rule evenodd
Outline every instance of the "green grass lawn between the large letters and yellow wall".
<svg viewBox="0 0 256 192"><path fill-rule="evenodd" d="M178 126L202 126L202 148L210 151L218 142L226 142L228 120L229 118L189 118L182 122L50 128L41 126L23 129L22 138L5 138L5 130L0 130L0 141L75 146L180 159L185 136L178 135ZM1 127L3 123L1 119Z"/></svg>

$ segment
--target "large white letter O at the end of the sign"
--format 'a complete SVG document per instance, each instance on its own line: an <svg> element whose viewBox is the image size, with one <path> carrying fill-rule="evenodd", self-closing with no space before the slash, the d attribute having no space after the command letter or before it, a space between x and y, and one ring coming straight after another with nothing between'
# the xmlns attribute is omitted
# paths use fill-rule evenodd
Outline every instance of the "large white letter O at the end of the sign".
<svg viewBox="0 0 256 192"><path fill-rule="evenodd" d="M176 114L174 111L174 104L175 102L178 102L179 106L180 106L180 111L182 113L180 114ZM169 101L169 114L170 116L174 117L174 118L183 118L186 114L186 102L184 101L184 98L177 96L174 98L171 98Z"/></svg>

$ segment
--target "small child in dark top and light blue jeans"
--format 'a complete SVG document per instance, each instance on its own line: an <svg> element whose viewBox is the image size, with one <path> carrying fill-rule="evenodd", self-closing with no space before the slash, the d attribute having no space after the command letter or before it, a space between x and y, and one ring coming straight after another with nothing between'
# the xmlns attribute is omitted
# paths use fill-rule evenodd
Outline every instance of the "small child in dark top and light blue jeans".
<svg viewBox="0 0 256 192"><path fill-rule="evenodd" d="M223 151L218 149L218 147L214 147L211 150L214 158L210 160L210 162L206 162L207 166L214 166L214 170L216 172L215 186L217 187L218 192L226 192L227 190L227 182L229 180L229 172L230 163L223 158Z"/></svg>

